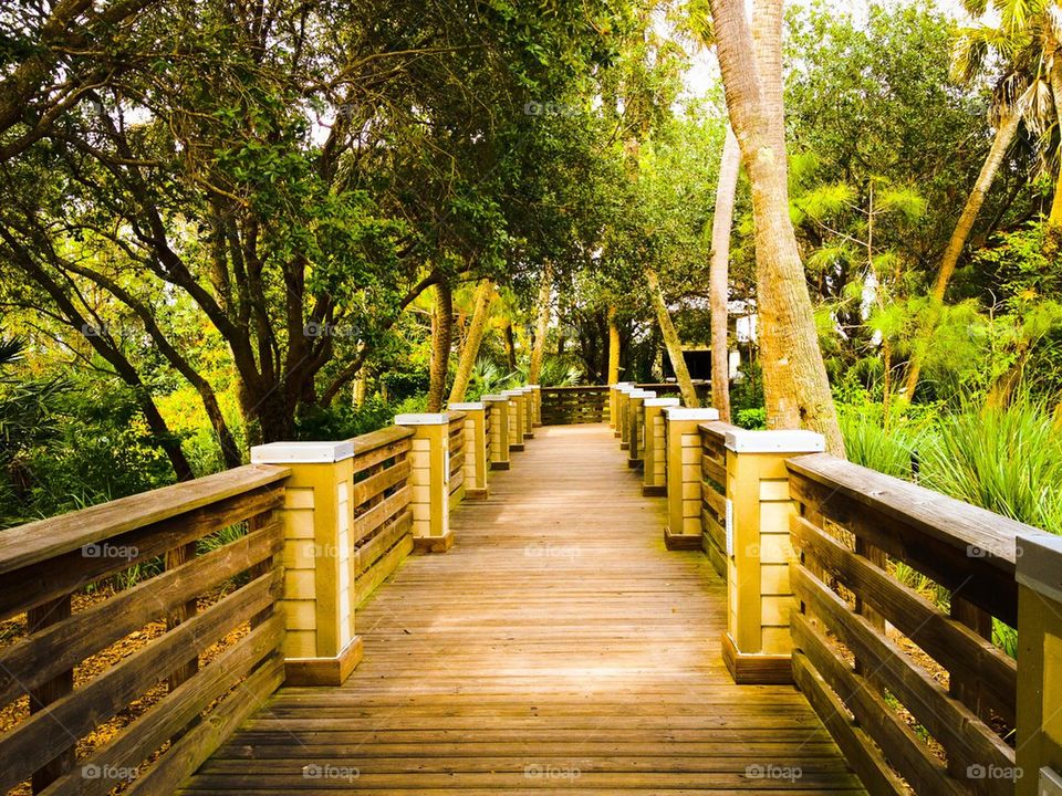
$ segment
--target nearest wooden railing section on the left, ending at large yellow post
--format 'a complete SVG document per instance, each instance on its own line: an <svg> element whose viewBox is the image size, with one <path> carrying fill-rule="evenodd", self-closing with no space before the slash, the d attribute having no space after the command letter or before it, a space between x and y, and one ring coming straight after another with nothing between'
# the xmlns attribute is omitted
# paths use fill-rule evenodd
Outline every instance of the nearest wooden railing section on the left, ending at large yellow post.
<svg viewBox="0 0 1062 796"><path fill-rule="evenodd" d="M28 701L0 736L0 792L32 778L50 796L173 793L272 693L287 475L243 467L0 534L0 618L22 618L0 649L0 703ZM143 579L112 593L133 573ZM131 636L150 640L106 653ZM149 693L135 721L86 744Z"/></svg>

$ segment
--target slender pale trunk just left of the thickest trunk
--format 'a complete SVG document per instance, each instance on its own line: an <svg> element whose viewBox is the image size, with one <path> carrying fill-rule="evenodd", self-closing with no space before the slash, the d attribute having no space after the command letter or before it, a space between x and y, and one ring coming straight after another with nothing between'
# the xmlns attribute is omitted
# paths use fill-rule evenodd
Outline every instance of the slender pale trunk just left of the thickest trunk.
<svg viewBox="0 0 1062 796"><path fill-rule="evenodd" d="M711 265L708 271L708 293L711 305L711 405L719 418L730 422L730 348L728 344L728 311L730 292L730 228L733 224L733 201L741 168L741 149L733 130L727 125L727 140L722 145L719 164L719 185L716 187L716 210L711 219Z"/></svg>

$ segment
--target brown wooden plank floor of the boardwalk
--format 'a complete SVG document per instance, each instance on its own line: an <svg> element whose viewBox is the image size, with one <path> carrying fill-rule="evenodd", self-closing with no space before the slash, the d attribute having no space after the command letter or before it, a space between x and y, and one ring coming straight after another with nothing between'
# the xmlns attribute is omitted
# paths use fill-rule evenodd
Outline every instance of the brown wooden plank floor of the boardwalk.
<svg viewBox="0 0 1062 796"><path fill-rule="evenodd" d="M723 585L607 427L537 429L452 525L358 611L346 684L279 691L188 793L863 793L800 693L732 683Z"/></svg>

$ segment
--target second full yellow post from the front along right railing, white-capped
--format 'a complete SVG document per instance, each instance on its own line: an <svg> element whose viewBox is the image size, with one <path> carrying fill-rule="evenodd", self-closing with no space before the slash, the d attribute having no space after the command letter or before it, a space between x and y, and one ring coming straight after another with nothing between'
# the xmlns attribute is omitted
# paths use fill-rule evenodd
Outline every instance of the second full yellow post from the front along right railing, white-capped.
<svg viewBox="0 0 1062 796"><path fill-rule="evenodd" d="M668 549L700 549L700 423L718 420L715 409L664 407Z"/></svg>

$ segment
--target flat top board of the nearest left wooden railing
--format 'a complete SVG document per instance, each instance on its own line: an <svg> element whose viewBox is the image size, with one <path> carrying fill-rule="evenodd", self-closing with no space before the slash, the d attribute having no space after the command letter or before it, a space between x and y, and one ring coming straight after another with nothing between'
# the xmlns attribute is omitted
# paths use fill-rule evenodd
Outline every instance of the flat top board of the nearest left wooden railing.
<svg viewBox="0 0 1062 796"><path fill-rule="evenodd" d="M283 467L247 464L9 528L0 534L0 574L275 484L290 474Z"/></svg>

